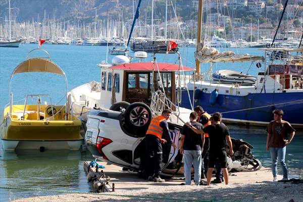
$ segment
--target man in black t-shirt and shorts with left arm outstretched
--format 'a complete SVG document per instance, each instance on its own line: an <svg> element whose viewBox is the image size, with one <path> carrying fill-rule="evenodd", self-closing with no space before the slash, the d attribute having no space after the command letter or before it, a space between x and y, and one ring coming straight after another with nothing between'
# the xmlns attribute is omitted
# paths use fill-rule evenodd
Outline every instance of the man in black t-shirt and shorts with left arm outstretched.
<svg viewBox="0 0 303 202"><path fill-rule="evenodd" d="M207 171L207 185L210 185L211 183L212 173L217 159L221 164L225 184L228 184L226 140L230 148L231 156L233 155L232 142L229 136L228 128L221 123L222 114L215 112L212 117L214 119L214 124L205 127L203 130L198 130L192 126L190 122L187 122L186 125L196 133L208 133L210 136L210 160L209 169Z"/></svg>

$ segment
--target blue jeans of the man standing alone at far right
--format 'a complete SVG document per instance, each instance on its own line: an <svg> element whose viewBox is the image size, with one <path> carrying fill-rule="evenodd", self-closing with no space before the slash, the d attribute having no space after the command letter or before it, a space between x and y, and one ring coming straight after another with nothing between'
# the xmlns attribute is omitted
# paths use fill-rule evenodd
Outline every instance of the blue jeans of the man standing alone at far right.
<svg viewBox="0 0 303 202"><path fill-rule="evenodd" d="M286 146L284 147L269 147L270 155L272 158L272 172L273 176L277 177L277 164L280 162L283 170L283 178L287 178L287 167L285 164Z"/></svg>

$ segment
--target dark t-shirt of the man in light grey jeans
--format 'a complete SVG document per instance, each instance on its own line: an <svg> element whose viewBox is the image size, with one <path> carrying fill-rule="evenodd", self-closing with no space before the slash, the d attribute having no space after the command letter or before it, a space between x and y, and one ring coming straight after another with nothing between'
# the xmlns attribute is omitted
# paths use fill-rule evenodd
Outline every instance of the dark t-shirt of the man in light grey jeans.
<svg viewBox="0 0 303 202"><path fill-rule="evenodd" d="M194 121L190 122L195 128L201 130L203 125ZM181 134L185 136L183 149L184 150L201 150L202 147L202 136L201 134L195 133L191 128L184 125Z"/></svg>

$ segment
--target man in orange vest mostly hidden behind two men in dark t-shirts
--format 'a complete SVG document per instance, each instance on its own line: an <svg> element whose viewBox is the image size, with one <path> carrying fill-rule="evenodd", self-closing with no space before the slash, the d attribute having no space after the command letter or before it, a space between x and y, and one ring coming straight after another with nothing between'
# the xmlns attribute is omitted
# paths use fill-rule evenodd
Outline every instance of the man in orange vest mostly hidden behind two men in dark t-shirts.
<svg viewBox="0 0 303 202"><path fill-rule="evenodd" d="M211 125L211 115L208 114L207 112L204 111L204 109L201 106L196 106L194 108L194 111L197 113L198 115L198 119L197 121L202 124L204 127L207 127L208 125ZM203 145L203 151L202 151L202 166L201 166L201 179L205 179L206 174L207 174L207 170L208 170L208 164L209 164L209 142L210 142L210 138L209 138L209 134L205 134L205 143ZM216 179L214 179L212 181L212 183L222 183L223 180L223 176L222 176L222 170L221 170L221 166L219 164L219 162L217 161L215 164L216 167Z"/></svg>

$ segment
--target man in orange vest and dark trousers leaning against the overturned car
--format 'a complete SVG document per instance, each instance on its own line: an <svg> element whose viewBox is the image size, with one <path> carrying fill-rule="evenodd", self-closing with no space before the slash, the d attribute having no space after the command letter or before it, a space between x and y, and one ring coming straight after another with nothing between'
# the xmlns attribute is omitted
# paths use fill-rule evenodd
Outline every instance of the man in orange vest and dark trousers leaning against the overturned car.
<svg viewBox="0 0 303 202"><path fill-rule="evenodd" d="M147 152L147 174L148 181L165 182L160 178L162 168L162 145L161 143L169 143L174 148L177 146L172 141L171 134L168 129L167 120L171 111L163 110L162 115L151 120L145 136L145 145ZM162 138L164 134L165 138Z"/></svg>

